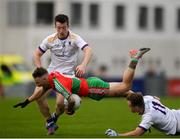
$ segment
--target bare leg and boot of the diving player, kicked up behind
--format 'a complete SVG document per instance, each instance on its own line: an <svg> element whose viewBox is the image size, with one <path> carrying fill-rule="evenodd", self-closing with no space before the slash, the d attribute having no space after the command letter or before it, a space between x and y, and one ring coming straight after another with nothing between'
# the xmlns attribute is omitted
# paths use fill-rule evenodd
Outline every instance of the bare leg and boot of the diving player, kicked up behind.
<svg viewBox="0 0 180 139"><path fill-rule="evenodd" d="M136 53L131 54L132 59L130 61L129 67L125 70L123 74L123 81L120 83L110 83L110 92L107 94L107 96L127 96L127 94L129 93L128 91L132 87L132 82L138 60L149 50L149 48L142 48L139 51L136 51Z"/></svg>

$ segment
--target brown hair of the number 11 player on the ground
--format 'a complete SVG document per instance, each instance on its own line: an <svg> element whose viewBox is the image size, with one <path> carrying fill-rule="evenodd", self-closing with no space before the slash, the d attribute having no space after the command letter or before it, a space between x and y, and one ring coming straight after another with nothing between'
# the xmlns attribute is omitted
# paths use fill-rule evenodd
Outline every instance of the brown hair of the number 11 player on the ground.
<svg viewBox="0 0 180 139"><path fill-rule="evenodd" d="M131 102L132 106L144 107L143 96L140 93L130 93L126 99Z"/></svg>

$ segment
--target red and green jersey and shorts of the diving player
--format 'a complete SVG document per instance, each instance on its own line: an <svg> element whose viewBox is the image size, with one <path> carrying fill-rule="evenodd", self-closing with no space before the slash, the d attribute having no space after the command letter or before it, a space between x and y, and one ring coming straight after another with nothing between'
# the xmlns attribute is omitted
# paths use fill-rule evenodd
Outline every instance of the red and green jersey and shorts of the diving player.
<svg viewBox="0 0 180 139"><path fill-rule="evenodd" d="M100 100L109 92L109 83L96 77L90 77L88 79L70 78L55 71L49 74L49 82L51 87L61 93L66 99L71 94L77 94Z"/></svg>

